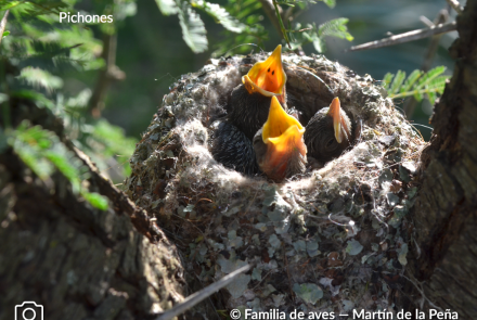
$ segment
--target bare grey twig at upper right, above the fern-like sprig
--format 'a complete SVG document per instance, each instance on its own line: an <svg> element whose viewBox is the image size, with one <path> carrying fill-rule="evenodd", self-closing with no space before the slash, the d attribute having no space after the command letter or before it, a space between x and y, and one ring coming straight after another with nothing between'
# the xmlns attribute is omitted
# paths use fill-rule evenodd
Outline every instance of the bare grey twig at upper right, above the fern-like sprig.
<svg viewBox="0 0 477 320"><path fill-rule="evenodd" d="M440 34L454 31L454 30L456 30L456 28L457 28L456 22L451 22L448 24L440 24L440 25L437 25L433 28L413 30L413 31L396 35L396 36L392 36L389 38L385 38L382 40L376 40L376 41L372 41L372 42L368 42L368 43L363 43L363 44L359 44L359 46L353 46L353 47L349 48L348 51L369 50L369 49L376 49L376 48L400 44L400 43L404 43L404 42L409 42L409 41L428 38L428 37L440 35Z"/></svg>

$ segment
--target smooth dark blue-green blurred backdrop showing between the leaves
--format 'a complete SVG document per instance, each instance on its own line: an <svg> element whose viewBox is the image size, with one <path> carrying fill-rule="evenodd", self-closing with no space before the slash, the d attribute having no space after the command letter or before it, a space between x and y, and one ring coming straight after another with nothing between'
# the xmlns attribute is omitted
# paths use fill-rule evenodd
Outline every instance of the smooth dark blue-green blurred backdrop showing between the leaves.
<svg viewBox="0 0 477 320"><path fill-rule="evenodd" d="M223 1L217 3L227 4ZM328 50L325 55L360 75L370 74L375 79L383 79L388 72L395 74L402 69L409 74L420 68L430 39L359 52L345 53L344 50L352 44L384 38L388 31L400 34L423 28L425 25L420 22L421 15L434 21L446 7L444 0L338 0L334 9L322 2L310 7L299 20L302 23L321 24L335 17L348 17L348 29L354 40L348 42L327 38ZM163 16L154 1L137 2L137 14L128 17L118 29L117 65L126 73L127 78L114 84L108 92L103 114L111 123L139 138L175 79L182 74L195 72L205 64L214 49L223 40L223 27L206 14L201 16L206 23L209 50L194 54L182 40L177 16ZM269 30L269 39L261 49L272 51L278 43L283 42L268 17L265 14L262 16L263 25ZM441 38L433 63L434 66L447 66L448 74L451 74L453 67L448 47L455 37L454 31ZM249 52L258 50L252 46L247 49ZM311 43L305 46L304 51L307 54L315 52ZM87 86L91 86L94 80L94 77L85 78ZM73 94L85 86L77 79L72 79L72 82L75 85L68 87ZM397 102L402 105L402 101ZM428 125L430 114L431 106L425 100L416 107L412 120ZM430 137L429 129L418 129L426 139Z"/></svg>

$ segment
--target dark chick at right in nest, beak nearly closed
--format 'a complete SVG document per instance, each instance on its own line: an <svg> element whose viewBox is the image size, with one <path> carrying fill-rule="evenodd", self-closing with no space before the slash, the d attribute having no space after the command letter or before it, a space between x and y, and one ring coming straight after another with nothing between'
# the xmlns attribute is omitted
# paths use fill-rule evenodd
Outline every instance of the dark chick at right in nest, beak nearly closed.
<svg viewBox="0 0 477 320"><path fill-rule="evenodd" d="M326 163L349 146L352 141L351 120L343 111L339 99L317 112L306 126L305 143L308 156Z"/></svg>

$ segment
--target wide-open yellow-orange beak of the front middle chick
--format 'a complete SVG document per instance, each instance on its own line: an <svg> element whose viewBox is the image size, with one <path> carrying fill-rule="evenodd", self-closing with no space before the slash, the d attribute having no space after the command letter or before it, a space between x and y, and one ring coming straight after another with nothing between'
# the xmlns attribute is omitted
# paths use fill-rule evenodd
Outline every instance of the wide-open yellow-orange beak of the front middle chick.
<svg viewBox="0 0 477 320"><path fill-rule="evenodd" d="M280 105L276 97L272 98L267 121L262 129L262 140L267 144L267 154L262 164L268 176L285 178L287 166L293 162L306 159L307 146L304 142L305 128ZM305 161L306 162L306 161ZM272 174L269 175L267 170ZM279 179L280 180L280 179Z"/></svg>

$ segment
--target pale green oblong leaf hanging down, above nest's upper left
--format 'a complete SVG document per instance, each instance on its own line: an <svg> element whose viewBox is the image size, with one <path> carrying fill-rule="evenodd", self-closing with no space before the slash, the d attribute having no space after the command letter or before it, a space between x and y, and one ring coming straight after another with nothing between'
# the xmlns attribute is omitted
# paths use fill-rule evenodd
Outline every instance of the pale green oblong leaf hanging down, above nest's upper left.
<svg viewBox="0 0 477 320"><path fill-rule="evenodd" d="M182 38L194 53L201 53L208 49L207 30L198 14L192 10L189 3L183 2L179 12L179 25L182 28Z"/></svg>

